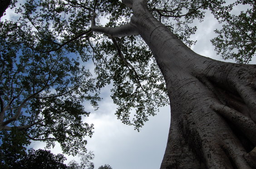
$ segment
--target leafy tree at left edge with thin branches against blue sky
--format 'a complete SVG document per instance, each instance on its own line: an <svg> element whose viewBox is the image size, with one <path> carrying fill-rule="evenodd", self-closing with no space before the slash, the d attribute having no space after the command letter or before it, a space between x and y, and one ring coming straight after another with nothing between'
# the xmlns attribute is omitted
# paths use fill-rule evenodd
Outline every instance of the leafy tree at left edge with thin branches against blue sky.
<svg viewBox="0 0 256 169"><path fill-rule="evenodd" d="M93 124L82 121L89 116L83 102L97 108L100 99L89 70L62 50L41 54L25 47L17 23L0 23L0 31L0 135L15 128L47 147L57 141L68 154L86 150L84 136L92 136Z"/></svg>

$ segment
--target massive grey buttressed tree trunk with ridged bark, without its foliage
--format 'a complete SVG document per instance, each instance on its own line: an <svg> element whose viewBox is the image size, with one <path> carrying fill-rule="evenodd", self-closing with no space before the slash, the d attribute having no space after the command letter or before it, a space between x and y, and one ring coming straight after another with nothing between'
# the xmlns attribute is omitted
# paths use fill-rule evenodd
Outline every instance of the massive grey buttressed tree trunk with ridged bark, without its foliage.
<svg viewBox="0 0 256 169"><path fill-rule="evenodd" d="M171 126L161 169L256 168L256 65L200 56L133 1L131 23L164 75Z"/></svg>

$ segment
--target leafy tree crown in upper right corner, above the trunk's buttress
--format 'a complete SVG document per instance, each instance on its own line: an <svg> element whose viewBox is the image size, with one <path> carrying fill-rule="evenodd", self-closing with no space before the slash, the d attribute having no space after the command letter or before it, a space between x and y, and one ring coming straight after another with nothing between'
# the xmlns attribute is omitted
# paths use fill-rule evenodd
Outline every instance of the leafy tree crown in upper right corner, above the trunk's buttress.
<svg viewBox="0 0 256 169"><path fill-rule="evenodd" d="M226 8L212 10L219 23L224 23L221 30L215 30L218 36L211 40L217 54L221 54L223 59L234 58L238 63L248 63L252 56L255 56L255 3L255 0L240 0ZM238 15L231 14L231 9L240 4L250 5L251 8L241 11Z"/></svg>

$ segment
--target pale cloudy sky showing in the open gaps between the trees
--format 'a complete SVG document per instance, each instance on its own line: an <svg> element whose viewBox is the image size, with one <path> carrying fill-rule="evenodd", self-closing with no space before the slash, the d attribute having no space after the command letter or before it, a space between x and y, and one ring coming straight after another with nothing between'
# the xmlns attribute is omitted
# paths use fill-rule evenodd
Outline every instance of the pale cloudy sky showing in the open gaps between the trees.
<svg viewBox="0 0 256 169"><path fill-rule="evenodd" d="M237 13L241 8L236 8ZM13 10L8 9L4 18L10 18ZM202 23L197 25L197 33L192 35L193 40L197 40L192 50L202 56L211 57L223 61L216 55L210 39L216 35L213 32L216 28L221 28L210 12L207 12ZM228 60L234 62L232 60ZM256 64L254 58L250 64ZM93 70L92 70L93 71ZM170 125L170 107L160 108L155 117L149 117L140 132L135 131L132 126L124 125L114 115L117 106L110 98L111 86L102 89L101 97L103 101L99 103L99 109L94 111L90 105L86 105L86 110L91 112L90 116L84 119L88 123L94 124L94 135L86 138L87 149L94 151L95 169L100 165L110 164L113 169L158 169L164 155L167 135ZM43 149L44 143L33 142L30 146L34 149ZM52 149L54 154L62 153L59 145ZM66 156L68 163L70 160L79 161L78 157Z"/></svg>

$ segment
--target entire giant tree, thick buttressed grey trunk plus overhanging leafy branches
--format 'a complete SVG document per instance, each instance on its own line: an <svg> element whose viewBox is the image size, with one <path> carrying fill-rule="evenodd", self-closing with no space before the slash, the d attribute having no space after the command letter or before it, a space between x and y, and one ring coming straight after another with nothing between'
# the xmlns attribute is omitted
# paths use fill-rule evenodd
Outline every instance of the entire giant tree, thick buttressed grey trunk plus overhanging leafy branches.
<svg viewBox="0 0 256 169"><path fill-rule="evenodd" d="M167 93L171 125L161 169L251 169L256 66L215 61L183 43L193 44L189 23L202 20L203 9L231 7L223 0L28 0L17 9L17 25L30 36L16 39L40 54L62 48L91 59L96 87L113 82L116 114L135 129L168 103ZM97 14L108 17L105 27Z"/></svg>

